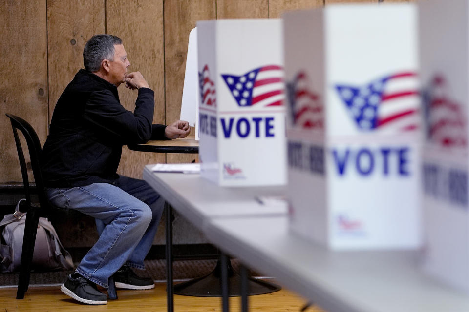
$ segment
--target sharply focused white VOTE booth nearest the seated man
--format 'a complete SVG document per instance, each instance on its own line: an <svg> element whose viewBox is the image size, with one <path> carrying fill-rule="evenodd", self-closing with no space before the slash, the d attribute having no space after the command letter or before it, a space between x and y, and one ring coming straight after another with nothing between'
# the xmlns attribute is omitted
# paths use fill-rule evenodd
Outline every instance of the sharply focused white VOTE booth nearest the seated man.
<svg viewBox="0 0 469 312"><path fill-rule="evenodd" d="M286 181L281 20L197 22L201 176L223 186Z"/></svg>

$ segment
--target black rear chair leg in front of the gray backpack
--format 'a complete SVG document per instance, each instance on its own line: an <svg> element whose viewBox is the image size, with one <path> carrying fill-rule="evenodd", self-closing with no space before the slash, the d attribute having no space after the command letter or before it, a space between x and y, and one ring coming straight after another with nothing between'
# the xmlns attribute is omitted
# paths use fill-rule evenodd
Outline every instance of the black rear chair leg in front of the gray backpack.
<svg viewBox="0 0 469 312"><path fill-rule="evenodd" d="M29 287L31 263L33 262L34 245L38 232L39 215L35 209L28 210L24 225L23 246L21 250L20 278L18 281L17 299L23 299Z"/></svg>

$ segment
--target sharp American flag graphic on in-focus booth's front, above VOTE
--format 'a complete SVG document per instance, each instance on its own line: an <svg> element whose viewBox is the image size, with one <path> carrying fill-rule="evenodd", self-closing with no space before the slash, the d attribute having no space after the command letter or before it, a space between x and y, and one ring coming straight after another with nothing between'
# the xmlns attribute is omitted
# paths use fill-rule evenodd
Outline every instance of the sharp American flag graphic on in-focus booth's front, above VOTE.
<svg viewBox="0 0 469 312"><path fill-rule="evenodd" d="M283 68L268 65L241 76L221 75L239 106L280 106L283 104Z"/></svg>

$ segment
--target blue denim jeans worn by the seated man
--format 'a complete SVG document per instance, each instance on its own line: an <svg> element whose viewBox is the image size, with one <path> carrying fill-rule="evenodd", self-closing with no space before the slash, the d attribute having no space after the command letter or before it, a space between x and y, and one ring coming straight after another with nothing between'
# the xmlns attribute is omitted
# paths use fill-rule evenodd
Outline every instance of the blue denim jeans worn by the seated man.
<svg viewBox="0 0 469 312"><path fill-rule="evenodd" d="M163 198L147 182L119 176L114 184L47 188L46 193L53 205L96 219L99 239L77 273L107 288L108 278L124 264L144 268L164 208Z"/></svg>

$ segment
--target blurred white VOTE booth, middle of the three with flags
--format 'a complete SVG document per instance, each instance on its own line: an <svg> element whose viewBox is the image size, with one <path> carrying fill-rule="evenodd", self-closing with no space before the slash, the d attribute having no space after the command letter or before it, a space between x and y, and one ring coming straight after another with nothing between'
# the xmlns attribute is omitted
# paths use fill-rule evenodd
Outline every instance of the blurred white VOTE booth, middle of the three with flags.
<svg viewBox="0 0 469 312"><path fill-rule="evenodd" d="M416 8L283 21L291 231L332 249L419 246Z"/></svg>

